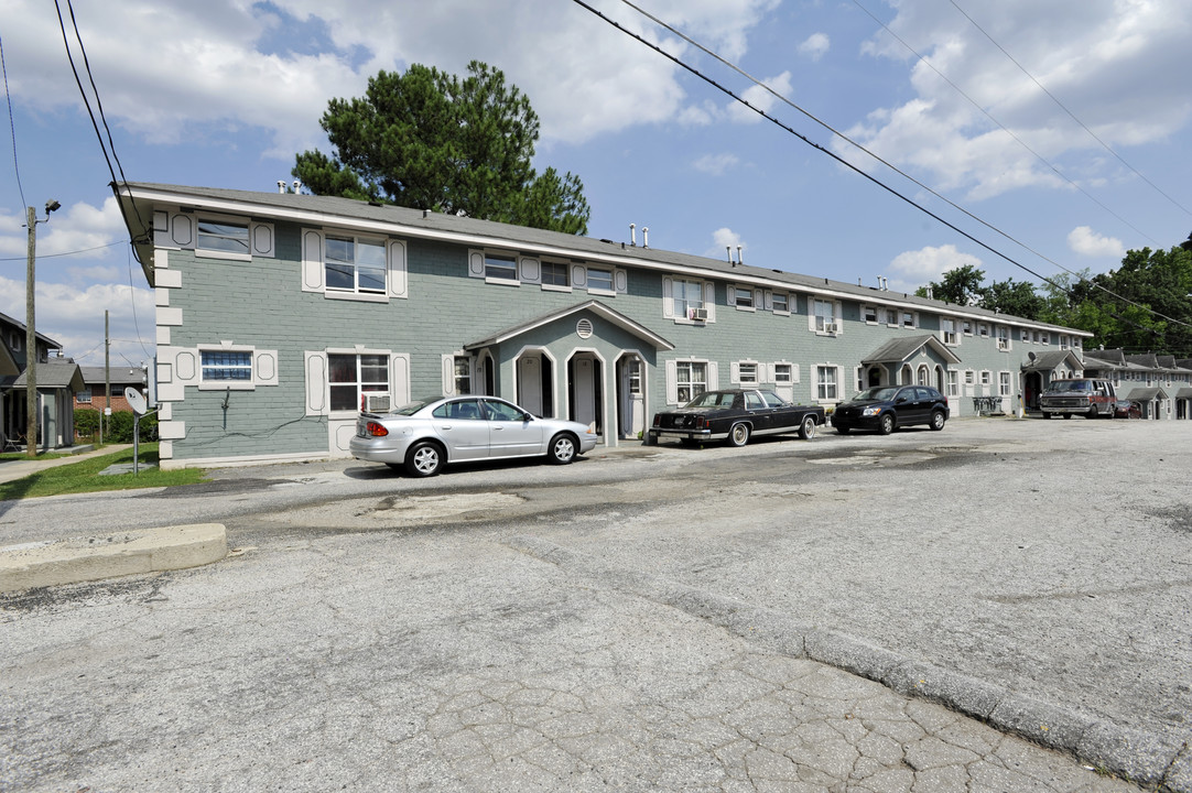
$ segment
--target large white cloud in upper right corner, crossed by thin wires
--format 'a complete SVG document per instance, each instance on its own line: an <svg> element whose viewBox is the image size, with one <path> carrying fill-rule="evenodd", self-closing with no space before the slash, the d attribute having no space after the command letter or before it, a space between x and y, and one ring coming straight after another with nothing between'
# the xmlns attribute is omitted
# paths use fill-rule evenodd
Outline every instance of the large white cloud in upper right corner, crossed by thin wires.
<svg viewBox="0 0 1192 793"><path fill-rule="evenodd" d="M1072 163L1060 167L1080 173L1080 179L1129 175L1112 171L1119 163L1106 157L1101 145L956 7L912 2L895 7L890 30L931 66L888 32L876 32L863 51L906 63L915 97L870 113L849 130L850 137L930 174L933 186L963 190L974 199L1026 186L1067 187L1024 144L1053 165L1064 156L1101 160L1097 173ZM1117 150L1160 141L1192 114L1185 81L1177 76L1192 72L1192 50L1182 44L1192 35L1185 0L1112 5L1005 0L997 8L973 6L969 13ZM1039 36L1041 30L1064 35L1056 39Z"/></svg>

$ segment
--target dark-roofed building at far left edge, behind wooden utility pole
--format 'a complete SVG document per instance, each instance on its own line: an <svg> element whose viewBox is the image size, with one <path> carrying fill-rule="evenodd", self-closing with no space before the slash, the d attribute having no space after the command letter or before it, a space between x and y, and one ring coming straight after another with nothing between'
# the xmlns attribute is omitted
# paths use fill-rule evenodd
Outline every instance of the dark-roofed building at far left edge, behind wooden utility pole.
<svg viewBox="0 0 1192 793"><path fill-rule="evenodd" d="M27 329L23 322L0 314L0 444L4 451L26 448L27 422ZM74 392L83 388L79 365L62 358L62 345L42 334L37 349L37 434L38 448L74 444ZM52 353L52 354L51 354Z"/></svg>

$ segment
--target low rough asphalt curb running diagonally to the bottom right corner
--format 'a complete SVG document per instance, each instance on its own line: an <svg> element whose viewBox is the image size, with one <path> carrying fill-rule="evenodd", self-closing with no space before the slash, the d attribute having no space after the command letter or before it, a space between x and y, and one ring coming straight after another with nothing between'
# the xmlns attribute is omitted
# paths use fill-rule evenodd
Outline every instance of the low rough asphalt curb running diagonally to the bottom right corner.
<svg viewBox="0 0 1192 793"><path fill-rule="evenodd" d="M510 538L507 545L560 568L610 581L766 649L837 667L905 696L938 702L1001 732L1068 752L1093 768L1144 787L1192 793L1192 746L1187 742L1022 696L1001 686L914 661L844 633L802 625L789 614L628 572L547 540L521 535Z"/></svg>

